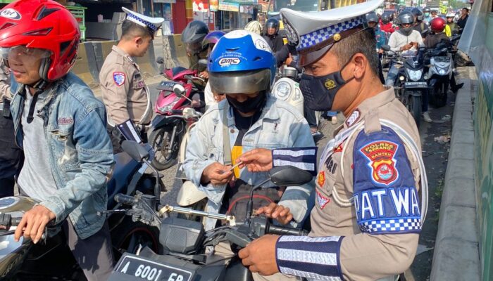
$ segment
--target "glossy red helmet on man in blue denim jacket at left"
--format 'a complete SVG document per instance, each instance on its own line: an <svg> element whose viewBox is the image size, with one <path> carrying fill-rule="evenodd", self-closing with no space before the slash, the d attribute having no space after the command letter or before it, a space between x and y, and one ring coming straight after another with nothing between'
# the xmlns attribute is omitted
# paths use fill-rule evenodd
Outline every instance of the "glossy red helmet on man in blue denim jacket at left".
<svg viewBox="0 0 493 281"><path fill-rule="evenodd" d="M79 42L77 20L55 1L18 0L0 11L2 53L18 46L46 50L49 55L39 67L45 81L56 81L70 71Z"/></svg>

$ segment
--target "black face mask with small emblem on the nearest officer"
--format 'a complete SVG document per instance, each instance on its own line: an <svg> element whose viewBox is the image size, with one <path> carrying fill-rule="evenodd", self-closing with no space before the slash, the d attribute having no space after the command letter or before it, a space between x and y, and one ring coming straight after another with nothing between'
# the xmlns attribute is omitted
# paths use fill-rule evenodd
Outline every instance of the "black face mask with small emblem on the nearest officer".
<svg viewBox="0 0 493 281"><path fill-rule="evenodd" d="M308 74L301 76L299 88L301 89L301 93L303 93L308 108L316 111L332 109L332 103L334 102L337 91L354 78L344 81L341 71L332 72L325 76L312 76Z"/></svg>

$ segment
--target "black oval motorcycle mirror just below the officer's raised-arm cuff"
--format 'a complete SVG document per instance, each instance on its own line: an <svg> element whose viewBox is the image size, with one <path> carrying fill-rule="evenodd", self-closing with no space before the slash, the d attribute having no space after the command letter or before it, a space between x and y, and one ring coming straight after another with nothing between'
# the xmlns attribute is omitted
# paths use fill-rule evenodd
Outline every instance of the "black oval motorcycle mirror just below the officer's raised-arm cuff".
<svg viewBox="0 0 493 281"><path fill-rule="evenodd" d="M310 172L295 166L277 166L269 171L270 181L277 186L292 186L309 183L313 176Z"/></svg>

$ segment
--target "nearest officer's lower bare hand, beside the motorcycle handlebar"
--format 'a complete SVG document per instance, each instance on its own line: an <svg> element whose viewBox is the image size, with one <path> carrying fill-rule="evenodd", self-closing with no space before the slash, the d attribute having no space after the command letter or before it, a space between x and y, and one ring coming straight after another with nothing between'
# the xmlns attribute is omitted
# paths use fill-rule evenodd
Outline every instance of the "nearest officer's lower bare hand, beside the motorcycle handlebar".
<svg viewBox="0 0 493 281"><path fill-rule="evenodd" d="M275 243L278 237L277 235L263 235L239 251L238 256L242 259L243 265L248 266L251 272L261 275L278 273L275 261Z"/></svg>

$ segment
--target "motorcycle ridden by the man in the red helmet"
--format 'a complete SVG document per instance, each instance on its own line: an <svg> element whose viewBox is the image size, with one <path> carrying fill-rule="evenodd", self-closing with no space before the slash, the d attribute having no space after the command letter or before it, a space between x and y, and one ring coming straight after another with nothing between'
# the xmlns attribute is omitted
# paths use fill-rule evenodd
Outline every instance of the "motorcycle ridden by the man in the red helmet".
<svg viewBox="0 0 493 281"><path fill-rule="evenodd" d="M117 211L122 205L113 200L117 194L142 193L158 197L161 180L144 174L149 163L135 161L125 152L115 155L113 177L108 181L108 210L106 220L110 229L113 256L119 259L125 251L135 252L138 245L146 245L160 251L158 228L142 222L132 223L125 214ZM143 148L144 149L144 148ZM148 148L149 149L149 148ZM157 171L156 171L157 173ZM85 280L82 270L68 249L60 226L49 225L43 240L33 244L29 238L13 240L15 227L23 214L37 204L30 197L14 196L0 198L0 279L1 280ZM63 257L63 259L61 258ZM54 263L56 261L56 263Z"/></svg>

